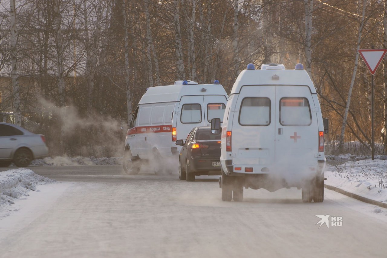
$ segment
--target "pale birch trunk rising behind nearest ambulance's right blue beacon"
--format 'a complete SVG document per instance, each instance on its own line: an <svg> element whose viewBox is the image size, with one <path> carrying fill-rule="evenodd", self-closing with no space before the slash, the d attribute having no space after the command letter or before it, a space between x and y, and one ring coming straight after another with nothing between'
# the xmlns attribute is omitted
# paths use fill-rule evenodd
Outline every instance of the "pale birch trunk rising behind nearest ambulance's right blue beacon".
<svg viewBox="0 0 387 258"><path fill-rule="evenodd" d="M312 79L312 18L313 18L313 0L305 1L305 70ZM312 79L313 80L313 79Z"/></svg>

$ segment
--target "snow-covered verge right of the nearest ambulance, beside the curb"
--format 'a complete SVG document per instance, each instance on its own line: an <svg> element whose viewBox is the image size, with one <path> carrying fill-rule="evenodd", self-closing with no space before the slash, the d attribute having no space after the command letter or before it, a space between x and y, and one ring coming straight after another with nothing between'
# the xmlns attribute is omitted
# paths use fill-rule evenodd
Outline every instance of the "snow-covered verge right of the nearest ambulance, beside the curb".
<svg viewBox="0 0 387 258"><path fill-rule="evenodd" d="M347 161L335 166L327 165L324 175L327 178L326 185L387 203L387 161L385 160L365 159Z"/></svg>

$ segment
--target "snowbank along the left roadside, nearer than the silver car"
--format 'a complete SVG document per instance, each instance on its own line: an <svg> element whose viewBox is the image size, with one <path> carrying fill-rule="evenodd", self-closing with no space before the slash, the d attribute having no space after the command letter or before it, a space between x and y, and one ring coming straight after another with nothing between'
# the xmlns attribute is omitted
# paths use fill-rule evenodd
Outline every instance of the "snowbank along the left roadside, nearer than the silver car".
<svg viewBox="0 0 387 258"><path fill-rule="evenodd" d="M36 191L36 186L56 182L39 176L26 168L10 169L0 172L0 218L9 215L15 200L29 196L29 191ZM39 190L37 190L39 191Z"/></svg>

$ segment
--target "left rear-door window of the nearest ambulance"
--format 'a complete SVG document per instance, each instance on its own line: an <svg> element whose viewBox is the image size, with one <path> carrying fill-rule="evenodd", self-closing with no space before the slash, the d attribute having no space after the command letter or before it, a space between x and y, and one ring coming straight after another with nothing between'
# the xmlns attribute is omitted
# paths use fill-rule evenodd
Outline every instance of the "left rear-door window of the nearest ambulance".
<svg viewBox="0 0 387 258"><path fill-rule="evenodd" d="M240 125L270 125L271 102L267 97L246 97L239 111Z"/></svg>

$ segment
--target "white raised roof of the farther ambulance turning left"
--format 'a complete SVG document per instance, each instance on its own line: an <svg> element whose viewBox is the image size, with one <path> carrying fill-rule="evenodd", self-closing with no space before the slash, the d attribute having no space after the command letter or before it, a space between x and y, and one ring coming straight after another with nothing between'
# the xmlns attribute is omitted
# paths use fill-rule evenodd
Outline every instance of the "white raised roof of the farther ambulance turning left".
<svg viewBox="0 0 387 258"><path fill-rule="evenodd" d="M176 102L182 96L224 95L228 96L221 84L164 85L149 87L141 97L139 104Z"/></svg>

